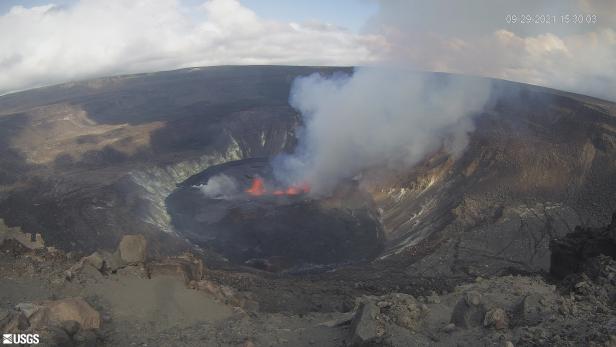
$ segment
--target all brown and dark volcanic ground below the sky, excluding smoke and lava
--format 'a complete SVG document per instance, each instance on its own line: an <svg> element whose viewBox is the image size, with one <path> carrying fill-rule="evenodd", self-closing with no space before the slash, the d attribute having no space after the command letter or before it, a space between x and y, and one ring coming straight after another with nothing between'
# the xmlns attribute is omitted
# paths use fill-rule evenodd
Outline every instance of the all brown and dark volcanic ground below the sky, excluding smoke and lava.
<svg viewBox="0 0 616 347"><path fill-rule="evenodd" d="M289 187L268 159L302 125L290 85L336 71L350 72L186 69L0 97L3 331L82 346L614 343L614 104L491 81L463 152L371 168L327 198L274 195ZM233 194L209 186L221 174ZM271 194L246 192L257 176Z"/></svg>

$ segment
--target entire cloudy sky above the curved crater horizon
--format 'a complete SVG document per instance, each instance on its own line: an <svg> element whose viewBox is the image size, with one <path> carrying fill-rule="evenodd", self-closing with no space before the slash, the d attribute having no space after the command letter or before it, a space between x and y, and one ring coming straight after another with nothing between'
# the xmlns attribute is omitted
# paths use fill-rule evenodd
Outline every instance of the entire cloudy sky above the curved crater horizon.
<svg viewBox="0 0 616 347"><path fill-rule="evenodd" d="M616 1L0 1L0 94L226 64L400 66L616 100Z"/></svg>

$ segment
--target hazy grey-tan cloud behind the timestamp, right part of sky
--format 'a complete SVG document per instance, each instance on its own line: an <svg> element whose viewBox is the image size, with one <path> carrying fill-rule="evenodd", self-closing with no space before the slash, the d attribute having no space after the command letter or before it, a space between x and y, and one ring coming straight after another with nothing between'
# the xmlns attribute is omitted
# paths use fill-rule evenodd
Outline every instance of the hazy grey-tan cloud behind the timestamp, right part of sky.
<svg viewBox="0 0 616 347"><path fill-rule="evenodd" d="M613 2L379 1L369 30L381 61L419 70L503 78L616 101ZM597 23L507 24L507 14L582 13Z"/></svg>

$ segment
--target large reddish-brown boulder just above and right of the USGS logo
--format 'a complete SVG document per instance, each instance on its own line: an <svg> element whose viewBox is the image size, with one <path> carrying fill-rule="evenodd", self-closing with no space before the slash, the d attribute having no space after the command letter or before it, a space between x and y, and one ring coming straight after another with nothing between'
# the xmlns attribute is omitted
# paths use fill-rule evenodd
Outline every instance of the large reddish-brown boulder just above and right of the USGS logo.
<svg viewBox="0 0 616 347"><path fill-rule="evenodd" d="M82 298L45 301L40 305L42 308L30 317L32 326L61 326L63 322L75 321L83 329L100 328L100 314Z"/></svg>

